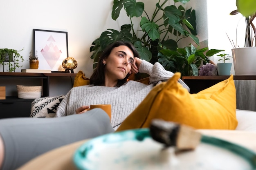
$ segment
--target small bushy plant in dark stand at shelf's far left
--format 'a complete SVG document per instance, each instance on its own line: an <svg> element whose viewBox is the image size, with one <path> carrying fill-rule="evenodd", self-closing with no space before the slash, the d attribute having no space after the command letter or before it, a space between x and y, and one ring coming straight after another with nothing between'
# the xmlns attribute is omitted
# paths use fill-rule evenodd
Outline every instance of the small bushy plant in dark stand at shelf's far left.
<svg viewBox="0 0 256 170"><path fill-rule="evenodd" d="M23 51L21 49L20 51ZM24 62L23 56L20 51L15 49L0 49L0 64L2 64L3 71L4 65L8 65L9 72L15 72L16 68L20 68L19 62Z"/></svg>

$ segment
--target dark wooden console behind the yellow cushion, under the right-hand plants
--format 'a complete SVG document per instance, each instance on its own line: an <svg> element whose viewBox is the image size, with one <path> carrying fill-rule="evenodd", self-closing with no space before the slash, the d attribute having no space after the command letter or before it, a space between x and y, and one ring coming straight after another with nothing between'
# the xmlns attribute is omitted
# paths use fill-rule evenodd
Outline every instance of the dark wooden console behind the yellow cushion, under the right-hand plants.
<svg viewBox="0 0 256 170"><path fill-rule="evenodd" d="M189 86L190 93L198 93L228 78L228 75L183 76L182 80ZM256 75L234 75L234 80L256 80Z"/></svg>

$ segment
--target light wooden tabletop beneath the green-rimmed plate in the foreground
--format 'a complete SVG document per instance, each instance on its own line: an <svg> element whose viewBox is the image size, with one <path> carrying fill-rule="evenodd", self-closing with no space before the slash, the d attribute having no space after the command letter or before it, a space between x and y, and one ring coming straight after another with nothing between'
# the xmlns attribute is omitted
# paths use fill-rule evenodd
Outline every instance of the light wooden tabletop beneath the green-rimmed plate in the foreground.
<svg viewBox="0 0 256 170"><path fill-rule="evenodd" d="M198 130L203 135L224 139L256 152L256 132L238 130ZM76 170L72 161L73 154L79 146L87 140L78 141L60 148L56 148L40 155L18 170Z"/></svg>

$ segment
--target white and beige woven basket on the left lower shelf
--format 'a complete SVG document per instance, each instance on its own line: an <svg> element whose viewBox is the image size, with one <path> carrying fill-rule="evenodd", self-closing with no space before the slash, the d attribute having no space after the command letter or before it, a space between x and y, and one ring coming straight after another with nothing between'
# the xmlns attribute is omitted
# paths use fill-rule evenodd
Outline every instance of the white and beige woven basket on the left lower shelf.
<svg viewBox="0 0 256 170"><path fill-rule="evenodd" d="M42 86L17 85L18 98L36 99L42 96Z"/></svg>

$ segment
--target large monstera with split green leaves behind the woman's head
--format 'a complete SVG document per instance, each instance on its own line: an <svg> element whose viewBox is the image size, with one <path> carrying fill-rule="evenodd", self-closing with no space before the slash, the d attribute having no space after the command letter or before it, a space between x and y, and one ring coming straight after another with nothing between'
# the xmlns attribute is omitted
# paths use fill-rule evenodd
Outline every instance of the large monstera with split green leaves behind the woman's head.
<svg viewBox="0 0 256 170"><path fill-rule="evenodd" d="M147 5L150 4L152 7L152 2ZM112 19L117 20L120 11L124 9L130 18L130 23L122 25L120 31L107 29L101 33L99 38L92 42L90 51L92 52L91 58L94 60L93 68L96 68L99 55L103 49L116 41L131 42L137 49L141 59L153 64L160 60L160 63L163 64L166 70L173 71L173 66L179 68L186 67L184 67L184 64L187 62L178 63L179 60L170 59L170 56L165 56L165 53L159 54L159 51L176 51L173 55L176 54L176 57L179 57L180 54L177 49L178 42L181 39L191 38L195 44L199 44L199 39L196 36L195 10L191 8L186 10L183 7L189 0L155 0L155 2L154 11L148 12L143 2L137 2L136 0L114 0ZM173 2L173 5L167 5L171 4L170 2ZM176 5L177 2L181 2L181 4L178 6ZM152 13L152 15L149 15L149 13ZM137 22L136 18L140 18L139 31L134 29L134 23ZM184 57L186 56L184 55ZM168 64L169 59L169 63L172 63L171 65ZM202 61L201 59L201 57L195 57L193 62ZM208 61L205 58L203 59L205 62ZM198 70L198 68L195 69ZM185 71L184 75L186 75L185 73L193 75L191 71Z"/></svg>

